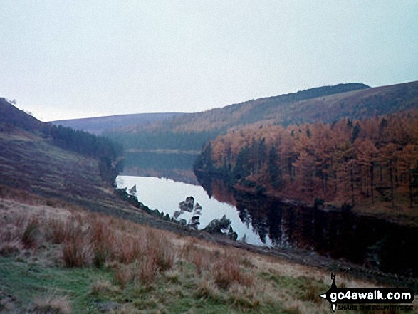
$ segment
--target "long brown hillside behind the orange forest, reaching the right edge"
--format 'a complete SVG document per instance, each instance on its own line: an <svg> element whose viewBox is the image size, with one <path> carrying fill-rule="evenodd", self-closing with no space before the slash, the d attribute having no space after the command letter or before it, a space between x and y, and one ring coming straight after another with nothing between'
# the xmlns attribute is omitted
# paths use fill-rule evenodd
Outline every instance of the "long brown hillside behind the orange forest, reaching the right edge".
<svg viewBox="0 0 418 314"><path fill-rule="evenodd" d="M364 119L418 108L418 82L369 88L358 83L312 88L249 100L150 125L131 125L107 136L125 148L196 150L231 128ZM140 135L140 136L138 136ZM179 147L180 146L180 147Z"/></svg>

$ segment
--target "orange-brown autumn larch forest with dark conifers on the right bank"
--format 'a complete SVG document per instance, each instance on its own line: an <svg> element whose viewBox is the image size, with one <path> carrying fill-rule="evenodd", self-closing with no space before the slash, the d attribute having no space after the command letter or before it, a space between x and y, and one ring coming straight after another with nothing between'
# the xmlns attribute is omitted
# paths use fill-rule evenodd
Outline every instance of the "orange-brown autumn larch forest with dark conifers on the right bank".
<svg viewBox="0 0 418 314"><path fill-rule="evenodd" d="M251 125L216 137L197 174L251 192L352 208L418 204L418 112L332 124Z"/></svg>

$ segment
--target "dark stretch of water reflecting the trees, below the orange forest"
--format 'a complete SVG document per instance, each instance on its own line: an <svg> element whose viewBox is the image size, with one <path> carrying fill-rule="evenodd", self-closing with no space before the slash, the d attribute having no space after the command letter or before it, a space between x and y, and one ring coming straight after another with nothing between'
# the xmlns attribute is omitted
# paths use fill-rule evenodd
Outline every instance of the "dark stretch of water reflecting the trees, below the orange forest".
<svg viewBox="0 0 418 314"><path fill-rule="evenodd" d="M283 204L278 199L231 191L220 180L201 180L209 195L236 206L239 218L260 241L304 248L332 258L418 277L418 229L349 211L323 211Z"/></svg>

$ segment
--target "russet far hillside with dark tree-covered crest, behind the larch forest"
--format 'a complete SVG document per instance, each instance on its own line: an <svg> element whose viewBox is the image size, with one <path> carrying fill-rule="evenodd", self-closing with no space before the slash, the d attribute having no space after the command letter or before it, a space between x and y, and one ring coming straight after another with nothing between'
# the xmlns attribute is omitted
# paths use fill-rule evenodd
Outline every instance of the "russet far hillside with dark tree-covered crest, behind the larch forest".
<svg viewBox="0 0 418 314"><path fill-rule="evenodd" d="M131 125L115 129L115 132L225 132L231 127L247 125L258 121L271 120L276 124L289 124L300 120L313 120L322 117L310 117L310 110L315 108L318 103L328 103L333 99L333 95L341 95L342 98L349 95L365 92L370 87L360 83L338 84L335 86L323 86L320 88L310 88L298 93L259 98L249 100L244 103L227 105L224 108L215 108L204 112L192 113L191 115L176 117L169 121L155 122L150 125ZM351 92L351 93L350 93ZM352 94L353 93L353 94ZM307 102L307 103L305 103ZM299 105L306 108L306 112L295 108ZM308 106L306 106L308 104ZM297 115L296 115L297 114ZM325 112L322 112L325 115ZM339 119L335 115L335 119Z"/></svg>

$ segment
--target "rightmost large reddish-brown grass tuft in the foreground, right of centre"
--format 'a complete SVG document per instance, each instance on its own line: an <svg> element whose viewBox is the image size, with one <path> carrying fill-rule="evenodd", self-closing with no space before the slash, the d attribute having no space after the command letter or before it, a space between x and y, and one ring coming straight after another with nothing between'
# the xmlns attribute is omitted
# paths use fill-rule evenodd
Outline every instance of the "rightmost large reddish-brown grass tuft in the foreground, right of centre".
<svg viewBox="0 0 418 314"><path fill-rule="evenodd" d="M226 255L219 258L212 267L212 276L217 286L229 288L232 283L239 283L243 286L251 286L253 277L241 271L237 258Z"/></svg>

